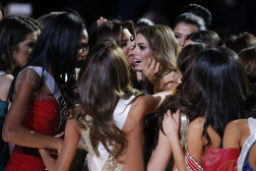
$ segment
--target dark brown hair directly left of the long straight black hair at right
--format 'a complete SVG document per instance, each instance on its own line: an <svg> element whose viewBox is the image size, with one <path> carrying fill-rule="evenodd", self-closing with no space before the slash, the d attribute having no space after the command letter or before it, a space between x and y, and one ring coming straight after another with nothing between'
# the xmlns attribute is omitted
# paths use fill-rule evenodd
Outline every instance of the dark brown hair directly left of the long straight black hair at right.
<svg viewBox="0 0 256 171"><path fill-rule="evenodd" d="M176 87L177 91L170 100L160 108L160 129L163 116L168 109L175 112L177 109L188 116L190 122L200 115L198 106L201 98L201 90L191 78L194 63L198 54L210 48L210 45L193 43L186 45L177 59L177 66L182 75L182 83Z"/></svg>

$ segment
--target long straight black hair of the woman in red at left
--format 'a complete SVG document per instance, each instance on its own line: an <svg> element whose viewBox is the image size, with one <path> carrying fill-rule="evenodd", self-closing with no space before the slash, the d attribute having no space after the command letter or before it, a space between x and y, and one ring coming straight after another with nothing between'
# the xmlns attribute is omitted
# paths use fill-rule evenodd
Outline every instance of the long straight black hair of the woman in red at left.
<svg viewBox="0 0 256 171"><path fill-rule="evenodd" d="M76 83L75 63L79 41L85 28L84 20L78 15L64 13L54 17L41 31L32 50L31 61L24 68L40 66L43 70L51 71L56 84L65 95ZM9 91L11 101L16 79L17 77Z"/></svg>

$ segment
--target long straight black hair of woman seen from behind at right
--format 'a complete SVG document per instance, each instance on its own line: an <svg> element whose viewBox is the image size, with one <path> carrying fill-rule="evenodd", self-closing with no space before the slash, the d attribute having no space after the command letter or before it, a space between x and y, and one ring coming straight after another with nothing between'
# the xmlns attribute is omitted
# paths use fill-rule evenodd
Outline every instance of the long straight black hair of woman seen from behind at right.
<svg viewBox="0 0 256 171"><path fill-rule="evenodd" d="M202 91L200 108L206 119L203 136L209 141L208 146L211 144L207 133L209 126L222 139L227 123L244 118L249 83L237 54L224 47L200 53L191 76Z"/></svg>

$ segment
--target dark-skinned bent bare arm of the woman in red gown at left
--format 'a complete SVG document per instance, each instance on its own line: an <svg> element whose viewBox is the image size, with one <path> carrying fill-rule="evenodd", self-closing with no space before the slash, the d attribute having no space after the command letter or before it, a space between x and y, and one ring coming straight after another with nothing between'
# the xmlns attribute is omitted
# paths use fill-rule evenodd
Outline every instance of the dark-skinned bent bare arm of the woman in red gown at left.
<svg viewBox="0 0 256 171"><path fill-rule="evenodd" d="M60 149L62 140L33 133L23 126L34 90L34 83L22 82L18 86L4 123L3 140L28 147Z"/></svg>

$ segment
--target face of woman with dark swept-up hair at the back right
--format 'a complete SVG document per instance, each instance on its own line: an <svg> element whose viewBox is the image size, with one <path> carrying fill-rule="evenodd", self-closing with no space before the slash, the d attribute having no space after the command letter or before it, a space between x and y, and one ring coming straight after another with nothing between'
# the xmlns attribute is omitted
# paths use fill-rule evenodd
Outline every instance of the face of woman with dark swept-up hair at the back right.
<svg viewBox="0 0 256 171"><path fill-rule="evenodd" d="M177 38L178 45L182 49L185 46L187 36L192 32L198 31L198 28L194 25L178 23L173 31Z"/></svg>

